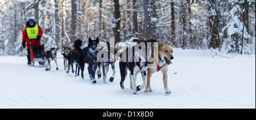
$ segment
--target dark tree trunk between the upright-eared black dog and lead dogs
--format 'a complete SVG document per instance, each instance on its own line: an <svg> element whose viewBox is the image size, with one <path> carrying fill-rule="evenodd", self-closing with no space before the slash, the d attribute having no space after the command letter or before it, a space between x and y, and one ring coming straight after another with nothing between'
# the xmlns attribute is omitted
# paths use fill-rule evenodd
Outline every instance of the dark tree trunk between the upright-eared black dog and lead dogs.
<svg viewBox="0 0 256 120"><path fill-rule="evenodd" d="M115 18L115 28L114 28L115 43L118 43L118 42L121 42L120 40L121 13L120 13L119 0L114 0L114 18Z"/></svg>

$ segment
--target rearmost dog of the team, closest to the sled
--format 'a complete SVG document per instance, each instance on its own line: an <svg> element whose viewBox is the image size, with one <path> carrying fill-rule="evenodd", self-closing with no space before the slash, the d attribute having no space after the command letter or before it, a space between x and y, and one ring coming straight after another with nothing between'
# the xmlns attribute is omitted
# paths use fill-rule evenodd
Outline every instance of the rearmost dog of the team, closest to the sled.
<svg viewBox="0 0 256 120"><path fill-rule="evenodd" d="M57 63L57 51L58 48L51 48L51 50L46 51L44 53L44 66L46 67L46 71L51 70L51 61L54 60L56 64L56 69L59 71L58 63Z"/></svg>

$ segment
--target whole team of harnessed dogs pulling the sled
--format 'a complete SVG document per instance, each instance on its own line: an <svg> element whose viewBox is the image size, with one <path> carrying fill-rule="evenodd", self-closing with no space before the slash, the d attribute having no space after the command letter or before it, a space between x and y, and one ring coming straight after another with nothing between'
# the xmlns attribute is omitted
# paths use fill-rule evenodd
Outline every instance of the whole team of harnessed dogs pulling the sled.
<svg viewBox="0 0 256 120"><path fill-rule="evenodd" d="M97 48L100 40L92 40L89 38L88 47L81 48L82 41L76 40L74 42L74 49L69 47L64 47L64 69L69 73L70 67L72 73L75 76L80 75L84 79L85 64L88 64L88 73L90 81L92 84L96 84L96 71L97 77L101 78L103 74L103 81L106 84L106 77L109 71L109 65L111 65L113 75L110 77L109 81L113 82L115 77L115 62L119 59L119 69L121 74L120 86L125 89L123 82L127 77L127 70L130 71L130 88L133 90L133 94L138 94L139 90L144 90L144 92L152 92L150 86L150 78L155 72L162 71L163 73L163 83L164 90L166 94L171 94L168 89L168 65L172 64L171 60L174 59L173 54L173 44L172 43L156 43L156 40L138 40L134 39L133 42L138 44L131 48L126 49L114 49L110 47L109 42L106 43L106 47ZM156 44L155 44L156 43ZM57 48L52 48L47 51L44 56L44 65L46 71L51 69L50 61L55 60L56 69L59 70L57 64L56 52ZM101 60L100 60L101 59ZM73 64L76 65L74 71ZM68 68L68 69L67 69ZM101 73L102 68L102 73ZM136 85L137 75L141 73L143 84Z"/></svg>

